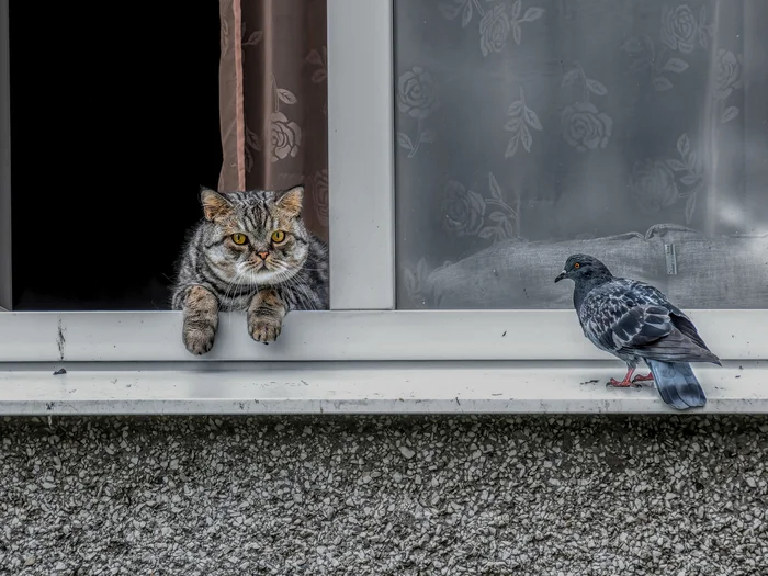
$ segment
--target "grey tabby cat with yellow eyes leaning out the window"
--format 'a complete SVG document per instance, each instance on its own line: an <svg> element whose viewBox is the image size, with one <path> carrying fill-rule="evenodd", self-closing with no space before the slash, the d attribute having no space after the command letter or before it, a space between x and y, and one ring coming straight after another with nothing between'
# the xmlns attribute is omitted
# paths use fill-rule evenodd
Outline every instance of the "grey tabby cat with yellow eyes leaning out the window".
<svg viewBox="0 0 768 576"><path fill-rule="evenodd" d="M218 193L201 188L204 218L181 255L171 307L193 354L214 345L218 312L247 312L248 334L274 341L285 314L327 309L328 248L302 221L304 187Z"/></svg>

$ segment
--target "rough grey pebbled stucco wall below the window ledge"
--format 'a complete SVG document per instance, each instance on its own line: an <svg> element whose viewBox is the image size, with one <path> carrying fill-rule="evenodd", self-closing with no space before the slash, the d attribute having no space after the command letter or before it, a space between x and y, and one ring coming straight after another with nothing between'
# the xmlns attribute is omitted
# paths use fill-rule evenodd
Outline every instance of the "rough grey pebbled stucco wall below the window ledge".
<svg viewBox="0 0 768 576"><path fill-rule="evenodd" d="M768 418L0 420L0 574L768 574Z"/></svg>

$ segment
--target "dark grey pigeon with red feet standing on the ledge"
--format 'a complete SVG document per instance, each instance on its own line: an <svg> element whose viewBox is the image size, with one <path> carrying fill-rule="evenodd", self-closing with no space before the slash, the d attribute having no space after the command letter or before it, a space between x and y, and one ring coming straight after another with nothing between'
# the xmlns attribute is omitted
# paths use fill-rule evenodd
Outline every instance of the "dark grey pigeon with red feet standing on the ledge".
<svg viewBox="0 0 768 576"><path fill-rule="evenodd" d="M626 375L608 386L628 387L655 381L662 399L677 408L701 407L707 395L690 362L722 365L693 323L656 287L614 278L595 257L573 255L555 278L574 281L574 307L584 336L626 363ZM651 372L630 380L641 361Z"/></svg>

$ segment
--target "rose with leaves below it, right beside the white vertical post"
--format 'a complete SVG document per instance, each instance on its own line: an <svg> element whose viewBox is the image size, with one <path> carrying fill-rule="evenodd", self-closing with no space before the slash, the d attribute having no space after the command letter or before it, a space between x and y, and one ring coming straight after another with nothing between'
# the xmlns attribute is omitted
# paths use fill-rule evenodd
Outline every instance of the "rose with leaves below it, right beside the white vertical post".
<svg viewBox="0 0 768 576"><path fill-rule="evenodd" d="M405 132L397 132L397 145L408 151L408 158L416 156L425 143L433 143L436 133L425 126L425 121L440 108L437 87L432 75L419 66L406 70L397 79L397 110L417 120L416 138Z"/></svg>

